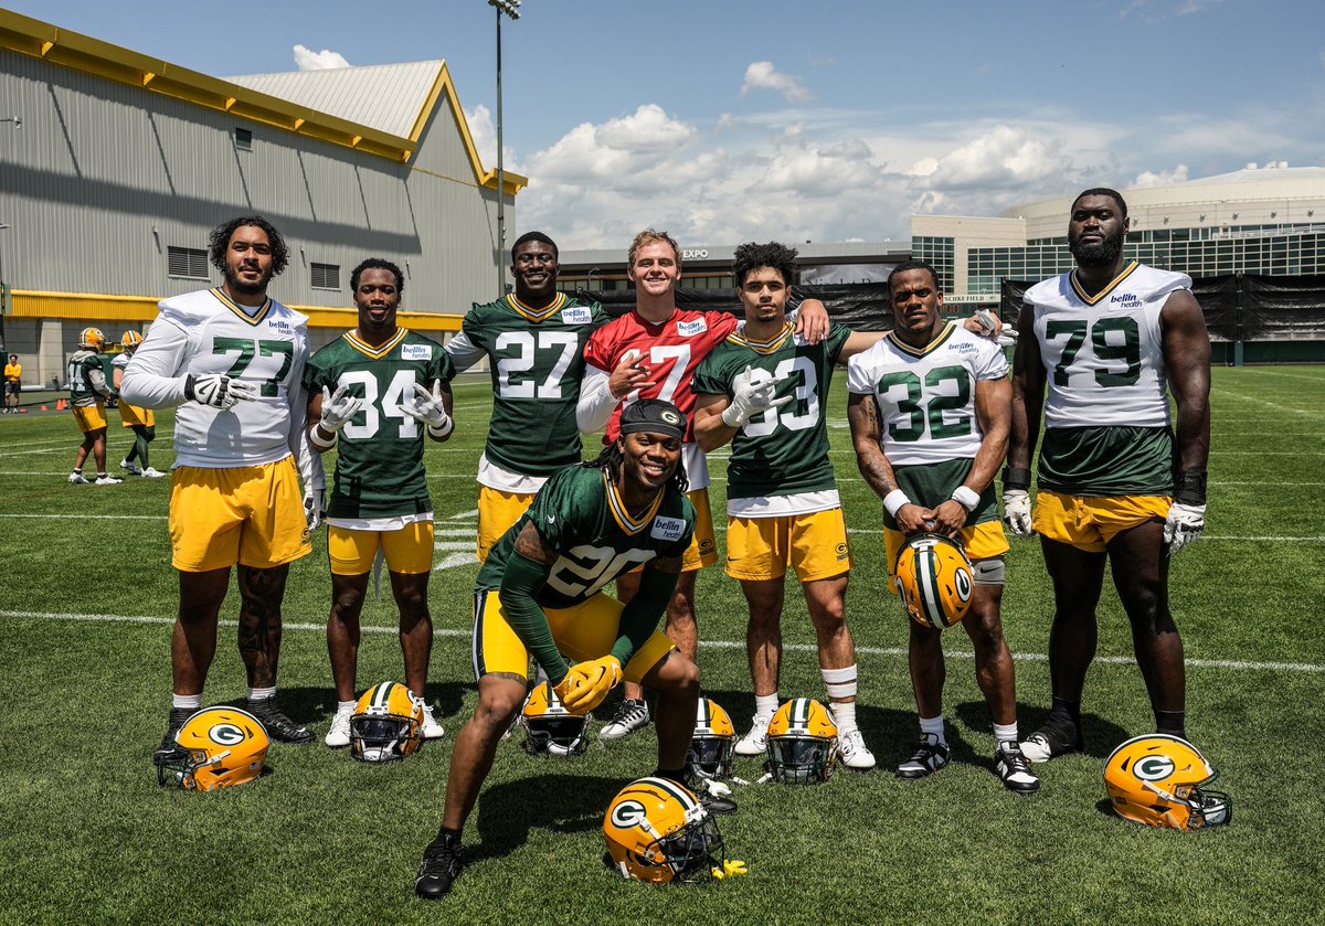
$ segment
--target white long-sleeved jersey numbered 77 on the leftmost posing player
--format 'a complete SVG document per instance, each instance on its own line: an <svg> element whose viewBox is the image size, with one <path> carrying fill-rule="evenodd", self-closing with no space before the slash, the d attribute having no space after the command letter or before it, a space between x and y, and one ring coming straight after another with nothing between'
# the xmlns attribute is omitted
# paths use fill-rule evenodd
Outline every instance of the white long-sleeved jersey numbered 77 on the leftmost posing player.
<svg viewBox="0 0 1325 926"><path fill-rule="evenodd" d="M144 408L178 405L178 466L229 469L277 462L302 449L309 319L276 299L249 315L221 289L163 299L125 371L121 395ZM228 411L188 401L187 374L224 374L258 387ZM301 457L299 469L306 461ZM307 472L305 472L307 477Z"/></svg>

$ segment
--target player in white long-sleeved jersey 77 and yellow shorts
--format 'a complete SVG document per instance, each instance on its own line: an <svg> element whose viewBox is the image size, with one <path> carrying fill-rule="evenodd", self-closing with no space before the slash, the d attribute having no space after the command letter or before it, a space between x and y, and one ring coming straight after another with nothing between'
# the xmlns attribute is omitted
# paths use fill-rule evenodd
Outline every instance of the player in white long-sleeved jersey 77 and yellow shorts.
<svg viewBox="0 0 1325 926"><path fill-rule="evenodd" d="M281 710L276 677L285 580L290 563L313 551L309 534L323 486L303 424L309 319L266 293L289 262L269 221L232 219L212 232L209 245L224 282L162 301L121 388L134 405L179 407L170 502L171 562L179 571L175 695L162 750L201 706L236 564L248 710L272 739L307 743L313 731Z"/></svg>

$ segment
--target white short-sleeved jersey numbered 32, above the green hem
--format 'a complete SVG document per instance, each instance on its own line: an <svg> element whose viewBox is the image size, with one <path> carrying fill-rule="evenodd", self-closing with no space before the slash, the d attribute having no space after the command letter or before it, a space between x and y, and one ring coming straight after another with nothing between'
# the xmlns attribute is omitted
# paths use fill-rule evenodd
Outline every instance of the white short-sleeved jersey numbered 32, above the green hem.
<svg viewBox="0 0 1325 926"><path fill-rule="evenodd" d="M896 466L973 460L984 438L975 383L1006 376L1003 348L955 323L925 347L888 334L847 362L847 388L878 403L884 456Z"/></svg>

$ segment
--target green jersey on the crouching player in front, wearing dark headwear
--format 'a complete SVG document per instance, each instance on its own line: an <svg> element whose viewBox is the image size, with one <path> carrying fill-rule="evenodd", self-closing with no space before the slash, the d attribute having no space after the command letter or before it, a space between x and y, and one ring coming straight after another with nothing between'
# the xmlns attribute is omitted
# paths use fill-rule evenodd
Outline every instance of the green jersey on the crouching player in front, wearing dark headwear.
<svg viewBox="0 0 1325 926"><path fill-rule="evenodd" d="M655 556L681 556L694 534L694 506L668 485L647 511L631 517L607 473L567 466L543 485L529 511L493 547L478 574L478 591L501 588L515 538L529 523L556 550L538 604L570 608Z"/></svg>

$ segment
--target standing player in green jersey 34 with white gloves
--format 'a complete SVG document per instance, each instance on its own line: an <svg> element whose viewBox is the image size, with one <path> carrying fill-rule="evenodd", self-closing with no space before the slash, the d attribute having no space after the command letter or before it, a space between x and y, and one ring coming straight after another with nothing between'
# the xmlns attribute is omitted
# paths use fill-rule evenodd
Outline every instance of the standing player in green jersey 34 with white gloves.
<svg viewBox="0 0 1325 926"><path fill-rule="evenodd" d="M309 358L309 441L319 452L338 449L335 485L327 506L331 559L331 616L327 652L337 711L326 745L350 745L359 613L368 572L379 551L400 611L405 686L423 705L424 739L441 737L424 701L432 615L432 499L423 468L424 432L450 437L454 375L441 344L396 325L404 276L395 264L368 258L350 274L359 327Z"/></svg>

